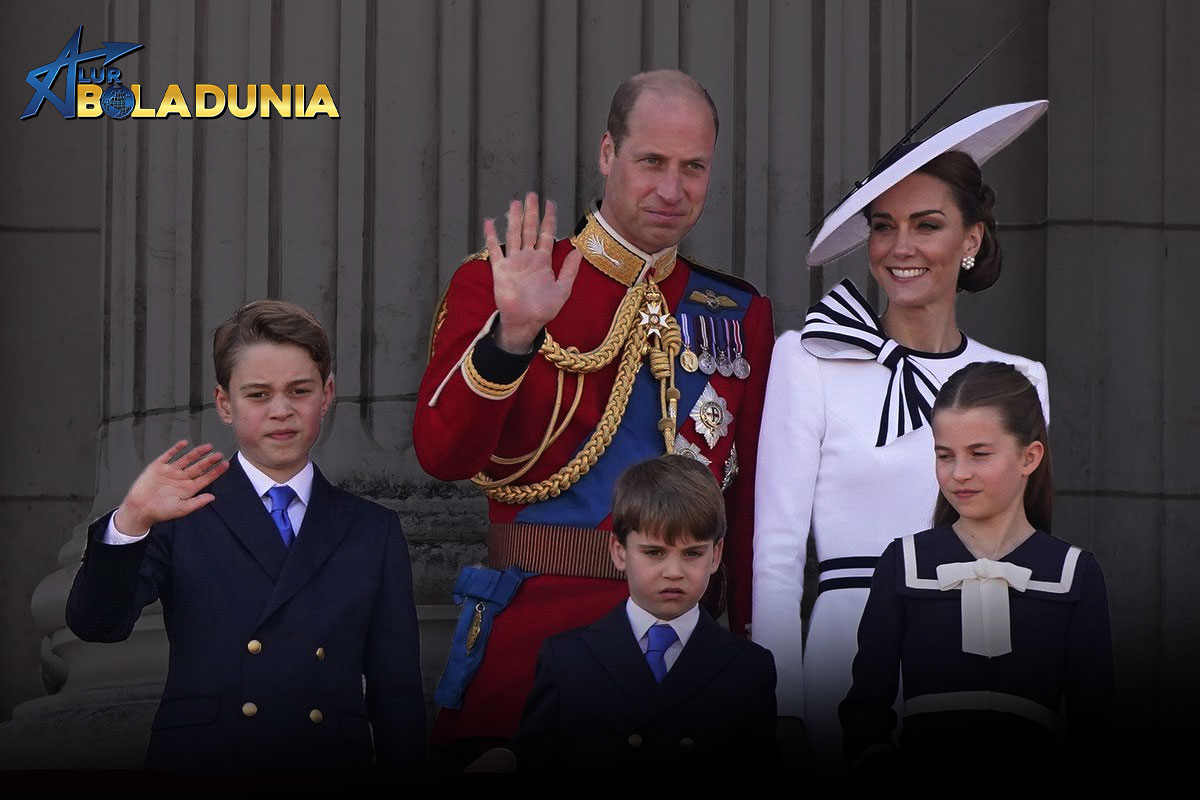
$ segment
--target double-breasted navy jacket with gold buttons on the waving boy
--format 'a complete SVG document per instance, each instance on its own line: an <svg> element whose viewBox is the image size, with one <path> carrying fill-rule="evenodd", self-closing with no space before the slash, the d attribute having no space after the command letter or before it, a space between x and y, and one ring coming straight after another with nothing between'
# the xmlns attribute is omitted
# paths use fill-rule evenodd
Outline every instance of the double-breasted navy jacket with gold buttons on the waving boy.
<svg viewBox="0 0 1200 800"><path fill-rule="evenodd" d="M142 541L88 531L67 625L119 642L162 601L170 661L146 766L413 769L425 753L416 610L395 512L314 470L290 548L233 459L216 499Z"/></svg>

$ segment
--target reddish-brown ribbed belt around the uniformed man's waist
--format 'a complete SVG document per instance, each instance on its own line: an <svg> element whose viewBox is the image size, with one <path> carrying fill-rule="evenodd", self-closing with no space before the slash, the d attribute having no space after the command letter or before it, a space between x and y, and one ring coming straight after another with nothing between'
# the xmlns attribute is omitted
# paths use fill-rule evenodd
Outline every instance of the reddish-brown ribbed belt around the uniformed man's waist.
<svg viewBox="0 0 1200 800"><path fill-rule="evenodd" d="M487 565L541 575L624 581L608 555L610 530L522 522L494 523L487 530Z"/></svg>

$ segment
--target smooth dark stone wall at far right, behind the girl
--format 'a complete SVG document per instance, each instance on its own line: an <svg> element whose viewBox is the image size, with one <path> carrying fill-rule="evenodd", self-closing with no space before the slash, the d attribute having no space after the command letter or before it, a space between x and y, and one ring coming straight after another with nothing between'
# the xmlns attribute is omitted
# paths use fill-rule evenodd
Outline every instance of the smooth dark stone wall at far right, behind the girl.
<svg viewBox="0 0 1200 800"><path fill-rule="evenodd" d="M1200 705L1198 30L1188 2L1050 5L1055 533L1105 570L1132 752L1181 746Z"/></svg>

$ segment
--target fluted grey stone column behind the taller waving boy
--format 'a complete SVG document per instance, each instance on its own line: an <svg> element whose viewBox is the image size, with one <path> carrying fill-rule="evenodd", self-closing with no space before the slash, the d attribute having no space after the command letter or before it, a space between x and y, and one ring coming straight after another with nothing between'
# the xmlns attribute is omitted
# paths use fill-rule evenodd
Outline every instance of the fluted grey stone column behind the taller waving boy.
<svg viewBox="0 0 1200 800"><path fill-rule="evenodd" d="M419 19L424 14L427 19ZM326 84L340 119L76 121L102 134L101 426L89 517L186 438L234 451L212 408L211 331L252 297L299 302L336 343L337 402L314 459L346 488L398 510L409 534L432 690L449 587L482 555L484 504L428 480L412 410L439 295L428 198L438 182L439 4L114 2L97 41L145 44L122 62L154 108L168 85ZM64 28L64 30L67 30ZM386 44L382 44L385 42ZM246 95L241 95L245 102ZM191 102L188 103L192 104ZM194 108L192 109L194 112ZM466 216L468 209L458 210ZM466 225L462 227L466 230ZM80 513L82 516L82 513ZM138 766L166 674L162 609L120 644L64 625L84 525L32 599L49 697L5 726L4 766Z"/></svg>

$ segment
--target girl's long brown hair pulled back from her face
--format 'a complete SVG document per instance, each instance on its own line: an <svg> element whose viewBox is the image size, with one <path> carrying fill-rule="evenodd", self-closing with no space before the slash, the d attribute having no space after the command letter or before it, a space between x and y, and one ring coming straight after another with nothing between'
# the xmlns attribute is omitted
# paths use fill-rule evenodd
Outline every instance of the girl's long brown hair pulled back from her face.
<svg viewBox="0 0 1200 800"><path fill-rule="evenodd" d="M1054 481L1050 468L1050 439L1046 435L1046 420L1038 391L1028 378L1010 363L977 361L955 372L942 385L937 399L934 401L934 415L943 410L960 411L972 408L996 409L1004 431L1022 447L1034 441L1042 443L1044 449L1042 463L1025 485L1025 516L1034 528L1050 533ZM949 504L946 495L938 492L937 506L934 509L934 525L946 525L958 518L959 512Z"/></svg>

